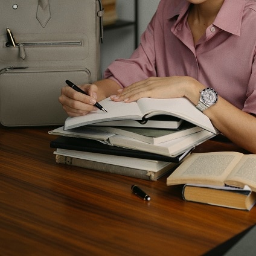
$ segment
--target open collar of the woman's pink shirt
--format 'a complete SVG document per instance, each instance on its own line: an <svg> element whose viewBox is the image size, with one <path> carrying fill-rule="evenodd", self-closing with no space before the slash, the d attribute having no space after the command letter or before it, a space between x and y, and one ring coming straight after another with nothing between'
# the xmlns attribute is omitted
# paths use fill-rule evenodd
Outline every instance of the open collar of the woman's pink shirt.
<svg viewBox="0 0 256 256"><path fill-rule="evenodd" d="M176 24L184 18L188 11L190 3L186 0L181 0L181 2L171 10L168 19L178 16ZM241 24L243 11L245 9L245 1L241 0L225 0L223 2L222 8L220 8L219 13L213 24L228 33L240 36Z"/></svg>

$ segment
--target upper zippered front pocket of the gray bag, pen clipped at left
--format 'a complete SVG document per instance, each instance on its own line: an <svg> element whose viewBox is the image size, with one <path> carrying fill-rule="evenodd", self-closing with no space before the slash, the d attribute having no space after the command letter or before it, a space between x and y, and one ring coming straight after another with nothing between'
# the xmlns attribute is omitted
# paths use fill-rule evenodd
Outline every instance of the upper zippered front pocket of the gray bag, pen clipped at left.
<svg viewBox="0 0 256 256"><path fill-rule="evenodd" d="M0 37L1 62L69 62L85 60L89 54L88 37L85 34L17 34L15 47ZM54 38L54 40L53 40ZM60 66L59 63L56 66Z"/></svg>

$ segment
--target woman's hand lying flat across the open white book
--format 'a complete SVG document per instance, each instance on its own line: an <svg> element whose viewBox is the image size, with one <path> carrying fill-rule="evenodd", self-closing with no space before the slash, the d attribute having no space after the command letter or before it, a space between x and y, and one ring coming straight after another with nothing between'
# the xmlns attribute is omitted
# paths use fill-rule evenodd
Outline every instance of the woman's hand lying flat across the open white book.
<svg viewBox="0 0 256 256"><path fill-rule="evenodd" d="M196 104L199 99L199 91L204 87L192 77L150 77L119 89L118 94L111 95L110 98L114 101L128 103L146 97L180 98L185 96ZM193 93L195 90L196 94Z"/></svg>

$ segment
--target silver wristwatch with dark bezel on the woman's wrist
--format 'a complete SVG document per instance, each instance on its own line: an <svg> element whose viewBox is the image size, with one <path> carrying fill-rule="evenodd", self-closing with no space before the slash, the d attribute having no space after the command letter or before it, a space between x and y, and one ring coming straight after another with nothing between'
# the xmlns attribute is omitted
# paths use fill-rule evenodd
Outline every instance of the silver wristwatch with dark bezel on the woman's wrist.
<svg viewBox="0 0 256 256"><path fill-rule="evenodd" d="M200 100L196 106L200 111L208 109L208 107L213 106L218 100L218 94L213 88L205 88L200 91Z"/></svg>

